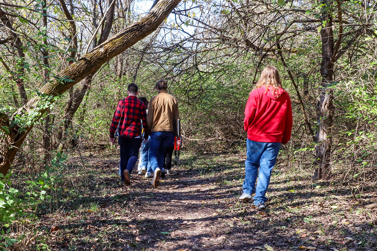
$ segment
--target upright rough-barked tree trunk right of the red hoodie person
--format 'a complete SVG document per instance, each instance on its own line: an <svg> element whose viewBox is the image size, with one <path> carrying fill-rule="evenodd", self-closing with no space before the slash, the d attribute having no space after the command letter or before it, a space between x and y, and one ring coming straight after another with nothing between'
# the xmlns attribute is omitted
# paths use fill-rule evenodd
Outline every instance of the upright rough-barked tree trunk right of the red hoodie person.
<svg viewBox="0 0 377 251"><path fill-rule="evenodd" d="M316 160L317 169L313 179L325 179L330 175L330 153L331 153L331 126L333 124L333 90L329 85L333 82L334 54L334 33L333 33L333 13L331 11L332 0L322 1L322 18L325 27L321 29L322 38L322 62L320 73L321 94L317 105L318 131L316 133Z"/></svg>

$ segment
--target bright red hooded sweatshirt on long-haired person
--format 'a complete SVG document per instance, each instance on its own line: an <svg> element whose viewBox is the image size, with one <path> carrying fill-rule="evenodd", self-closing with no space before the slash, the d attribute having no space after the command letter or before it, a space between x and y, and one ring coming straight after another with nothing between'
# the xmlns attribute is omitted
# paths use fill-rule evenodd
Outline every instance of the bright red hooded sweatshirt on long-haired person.
<svg viewBox="0 0 377 251"><path fill-rule="evenodd" d="M253 90L245 107L244 129L247 138L257 142L287 144L292 132L291 99L285 90L275 97L270 88Z"/></svg>

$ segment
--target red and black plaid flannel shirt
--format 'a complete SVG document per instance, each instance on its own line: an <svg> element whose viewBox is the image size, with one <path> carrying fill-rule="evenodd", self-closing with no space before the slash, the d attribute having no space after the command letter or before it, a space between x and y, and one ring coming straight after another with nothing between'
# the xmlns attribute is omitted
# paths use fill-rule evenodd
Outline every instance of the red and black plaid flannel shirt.
<svg viewBox="0 0 377 251"><path fill-rule="evenodd" d="M149 136L147 124L147 111L143 102L136 96L128 96L122 99L116 107L110 126L110 138L114 138L116 127L118 134L123 138L136 138L140 136L141 121L143 121L144 138Z"/></svg>

